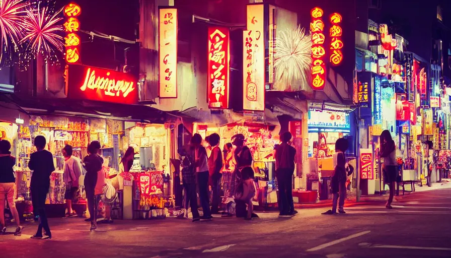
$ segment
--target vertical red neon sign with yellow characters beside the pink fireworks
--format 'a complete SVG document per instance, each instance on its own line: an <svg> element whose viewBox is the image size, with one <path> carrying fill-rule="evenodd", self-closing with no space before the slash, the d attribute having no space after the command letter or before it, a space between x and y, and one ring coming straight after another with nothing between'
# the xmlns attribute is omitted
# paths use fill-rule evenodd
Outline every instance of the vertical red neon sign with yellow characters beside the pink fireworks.
<svg viewBox="0 0 451 258"><path fill-rule="evenodd" d="M82 13L82 9L79 5L70 3L64 7L63 12L66 18L63 24L64 32L66 33L64 37L66 62L80 63L82 41L77 33L80 29L80 21L77 17Z"/></svg>

